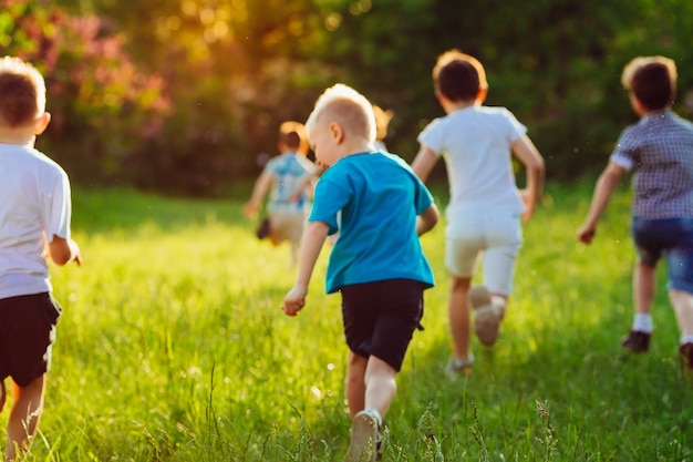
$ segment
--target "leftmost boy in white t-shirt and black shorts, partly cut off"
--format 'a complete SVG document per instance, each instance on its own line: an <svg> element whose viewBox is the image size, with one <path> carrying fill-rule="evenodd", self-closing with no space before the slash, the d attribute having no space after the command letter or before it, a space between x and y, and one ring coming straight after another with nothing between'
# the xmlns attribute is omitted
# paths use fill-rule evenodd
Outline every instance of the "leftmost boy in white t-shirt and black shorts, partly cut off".
<svg viewBox="0 0 693 462"><path fill-rule="evenodd" d="M33 145L51 116L45 83L20 59L0 60L0 411L12 378L6 461L22 459L43 411L60 306L46 257L81 264L70 238L70 183ZM23 459L22 459L23 460Z"/></svg>

